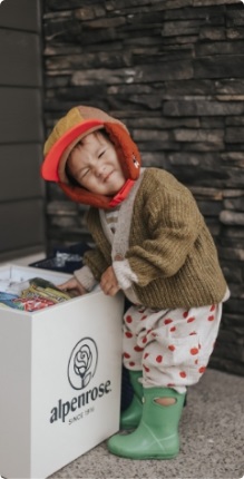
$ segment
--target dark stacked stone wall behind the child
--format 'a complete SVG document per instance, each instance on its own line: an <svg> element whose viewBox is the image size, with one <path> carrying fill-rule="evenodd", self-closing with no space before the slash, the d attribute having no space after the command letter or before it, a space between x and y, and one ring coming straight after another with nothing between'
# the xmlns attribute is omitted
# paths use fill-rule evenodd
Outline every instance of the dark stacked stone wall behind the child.
<svg viewBox="0 0 244 479"><path fill-rule="evenodd" d="M46 0L46 134L75 105L126 123L145 166L193 192L231 289L211 361L244 373L244 6ZM48 187L49 251L89 241L86 208Z"/></svg>

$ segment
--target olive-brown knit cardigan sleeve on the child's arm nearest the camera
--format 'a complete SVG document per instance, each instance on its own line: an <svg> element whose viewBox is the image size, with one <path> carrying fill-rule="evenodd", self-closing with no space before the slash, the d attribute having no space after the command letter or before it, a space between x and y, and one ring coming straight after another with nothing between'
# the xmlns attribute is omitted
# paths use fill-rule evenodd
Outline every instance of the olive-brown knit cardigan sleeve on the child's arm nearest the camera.
<svg viewBox="0 0 244 479"><path fill-rule="evenodd" d="M166 185L160 183L160 175L144 184L144 205L140 215L134 216L131 234L136 240L126 258L139 286L175 275L191 255L203 226L191 192L174 177L168 178Z"/></svg>

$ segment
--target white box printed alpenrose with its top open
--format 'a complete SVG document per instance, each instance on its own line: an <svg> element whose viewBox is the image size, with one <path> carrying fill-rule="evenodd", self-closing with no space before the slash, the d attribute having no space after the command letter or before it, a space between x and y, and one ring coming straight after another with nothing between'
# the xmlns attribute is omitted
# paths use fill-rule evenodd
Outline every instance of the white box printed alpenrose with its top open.
<svg viewBox="0 0 244 479"><path fill-rule="evenodd" d="M1 280L69 275L4 265ZM0 476L47 478L119 427L123 295L0 306Z"/></svg>

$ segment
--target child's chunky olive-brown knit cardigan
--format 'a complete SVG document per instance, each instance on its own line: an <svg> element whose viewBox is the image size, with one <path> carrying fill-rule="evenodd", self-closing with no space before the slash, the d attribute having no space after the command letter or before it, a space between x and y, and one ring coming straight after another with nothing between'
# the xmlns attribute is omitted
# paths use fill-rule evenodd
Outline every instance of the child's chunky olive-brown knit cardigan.
<svg viewBox="0 0 244 479"><path fill-rule="evenodd" d="M88 212L96 248L85 254L97 281L113 264L99 211ZM153 309L203 306L223 301L227 290L216 247L192 193L169 173L146 168L137 192L125 256L137 275L133 287Z"/></svg>

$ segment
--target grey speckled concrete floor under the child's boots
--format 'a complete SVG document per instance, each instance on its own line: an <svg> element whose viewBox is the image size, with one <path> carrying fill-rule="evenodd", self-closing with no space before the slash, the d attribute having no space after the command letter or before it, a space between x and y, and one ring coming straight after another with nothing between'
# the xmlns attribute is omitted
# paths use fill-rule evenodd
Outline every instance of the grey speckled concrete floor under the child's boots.
<svg viewBox="0 0 244 479"><path fill-rule="evenodd" d="M103 442L49 479L240 479L244 476L244 378L207 370L188 390L176 459L130 460Z"/></svg>

